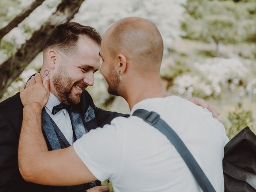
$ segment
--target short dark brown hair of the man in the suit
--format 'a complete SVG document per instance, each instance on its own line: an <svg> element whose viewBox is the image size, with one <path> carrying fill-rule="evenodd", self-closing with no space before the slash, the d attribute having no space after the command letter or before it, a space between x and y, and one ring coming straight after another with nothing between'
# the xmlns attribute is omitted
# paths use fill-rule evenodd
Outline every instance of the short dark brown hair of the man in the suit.
<svg viewBox="0 0 256 192"><path fill-rule="evenodd" d="M52 33L44 42L44 50L49 47L57 47L61 51L68 53L76 50L76 43L80 35L87 36L100 46L100 34L90 26L83 26L76 22L66 22L54 28Z"/></svg>

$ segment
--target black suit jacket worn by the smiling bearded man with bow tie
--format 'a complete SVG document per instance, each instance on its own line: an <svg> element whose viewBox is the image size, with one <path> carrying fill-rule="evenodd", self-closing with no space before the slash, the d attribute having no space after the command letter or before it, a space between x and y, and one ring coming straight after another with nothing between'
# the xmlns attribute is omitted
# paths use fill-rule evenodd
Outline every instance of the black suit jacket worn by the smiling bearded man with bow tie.
<svg viewBox="0 0 256 192"><path fill-rule="evenodd" d="M91 106L95 118L86 122L88 130L110 124L117 116L128 117L128 114L109 112L97 108L92 97L87 91L81 95L81 101L77 105L83 115ZM44 186L32 184L23 180L18 169L18 141L22 125L23 106L20 101L20 94L4 100L0 103L0 192L60 192L67 191L62 187ZM46 143L49 148L49 142ZM70 192L74 190L70 190Z"/></svg>

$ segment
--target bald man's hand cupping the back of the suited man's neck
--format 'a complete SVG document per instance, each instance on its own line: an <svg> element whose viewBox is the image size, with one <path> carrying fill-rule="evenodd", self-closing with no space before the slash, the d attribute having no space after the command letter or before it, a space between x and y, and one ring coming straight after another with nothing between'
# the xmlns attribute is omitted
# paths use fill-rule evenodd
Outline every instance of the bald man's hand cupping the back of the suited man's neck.
<svg viewBox="0 0 256 192"><path fill-rule="evenodd" d="M26 88L22 86L20 89L20 100L23 106L37 103L42 109L48 102L49 95L49 77L46 76L42 80L39 73L28 81Z"/></svg>

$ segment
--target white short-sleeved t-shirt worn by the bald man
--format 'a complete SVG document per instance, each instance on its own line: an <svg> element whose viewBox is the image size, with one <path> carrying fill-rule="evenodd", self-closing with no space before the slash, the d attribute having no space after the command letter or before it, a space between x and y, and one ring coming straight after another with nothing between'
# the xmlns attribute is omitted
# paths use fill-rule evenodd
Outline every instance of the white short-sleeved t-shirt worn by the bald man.
<svg viewBox="0 0 256 192"><path fill-rule="evenodd" d="M228 141L223 124L208 110L177 96L146 99L136 109L160 114L186 144L217 192L224 192L222 158ZM190 170L156 128L136 116L118 117L91 130L74 149L100 181L115 192L202 191Z"/></svg>

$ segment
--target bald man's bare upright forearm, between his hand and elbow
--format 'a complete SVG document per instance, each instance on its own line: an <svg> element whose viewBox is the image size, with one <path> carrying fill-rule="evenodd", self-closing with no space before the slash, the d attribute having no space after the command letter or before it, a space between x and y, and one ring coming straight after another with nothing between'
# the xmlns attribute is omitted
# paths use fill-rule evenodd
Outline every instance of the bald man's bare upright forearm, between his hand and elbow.
<svg viewBox="0 0 256 192"><path fill-rule="evenodd" d="M48 151L41 128L40 105L33 103L24 106L23 121L18 147L18 163L22 177L30 180L37 169L40 156Z"/></svg>

